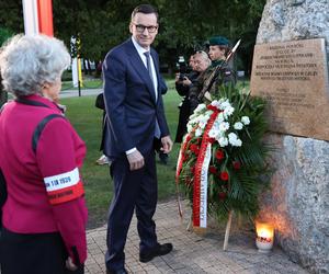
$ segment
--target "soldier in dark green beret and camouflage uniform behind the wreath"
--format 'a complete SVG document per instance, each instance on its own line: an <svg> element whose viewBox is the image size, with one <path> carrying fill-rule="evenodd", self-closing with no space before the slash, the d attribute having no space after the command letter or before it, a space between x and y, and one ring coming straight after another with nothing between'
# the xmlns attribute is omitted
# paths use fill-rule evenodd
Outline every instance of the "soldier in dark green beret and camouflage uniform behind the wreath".
<svg viewBox="0 0 329 274"><path fill-rule="evenodd" d="M206 91L216 94L220 85L235 85L236 76L231 68L225 62L229 53L229 42L223 36L214 36L209 38L209 58L212 66L207 68L193 82L190 89L191 112L202 102L207 102ZM220 68L217 70L216 68Z"/></svg>

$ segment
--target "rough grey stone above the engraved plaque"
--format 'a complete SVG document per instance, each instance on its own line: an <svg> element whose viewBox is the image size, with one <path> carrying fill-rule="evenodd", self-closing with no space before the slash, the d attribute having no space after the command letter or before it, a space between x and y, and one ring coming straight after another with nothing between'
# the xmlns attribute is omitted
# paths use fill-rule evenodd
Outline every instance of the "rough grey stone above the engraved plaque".
<svg viewBox="0 0 329 274"><path fill-rule="evenodd" d="M326 39L328 60L328 0L268 0L258 30L257 44L310 38Z"/></svg>

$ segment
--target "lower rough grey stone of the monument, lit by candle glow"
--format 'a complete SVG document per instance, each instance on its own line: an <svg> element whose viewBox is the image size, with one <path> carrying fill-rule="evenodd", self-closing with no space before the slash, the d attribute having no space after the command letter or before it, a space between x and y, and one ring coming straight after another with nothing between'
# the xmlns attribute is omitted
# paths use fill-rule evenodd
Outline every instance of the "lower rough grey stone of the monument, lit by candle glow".
<svg viewBox="0 0 329 274"><path fill-rule="evenodd" d="M275 226L279 244L313 273L329 273L329 142L271 135L277 150L261 218Z"/></svg>

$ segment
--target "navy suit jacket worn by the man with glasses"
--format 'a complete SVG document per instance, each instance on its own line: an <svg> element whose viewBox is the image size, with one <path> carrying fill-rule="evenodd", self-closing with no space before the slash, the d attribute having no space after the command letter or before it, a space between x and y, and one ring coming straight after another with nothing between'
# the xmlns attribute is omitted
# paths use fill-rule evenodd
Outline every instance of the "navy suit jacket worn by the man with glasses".
<svg viewBox="0 0 329 274"><path fill-rule="evenodd" d="M161 137L169 135L161 93L167 89L159 72L158 54L151 49L158 100L148 70L132 39L116 46L103 62L106 136L104 153L111 159L124 157L136 147L141 155L152 150L156 118Z"/></svg>

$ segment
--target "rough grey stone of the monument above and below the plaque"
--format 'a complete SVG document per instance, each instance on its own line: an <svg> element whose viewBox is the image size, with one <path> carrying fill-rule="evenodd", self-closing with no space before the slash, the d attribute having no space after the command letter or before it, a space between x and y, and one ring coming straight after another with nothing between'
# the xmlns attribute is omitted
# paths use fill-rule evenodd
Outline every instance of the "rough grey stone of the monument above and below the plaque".
<svg viewBox="0 0 329 274"><path fill-rule="evenodd" d="M268 0L257 44L318 37L326 39L329 68L328 0ZM313 273L329 273L329 142L276 134L270 139L279 148L276 171L261 216L274 222L276 240L292 260Z"/></svg>

